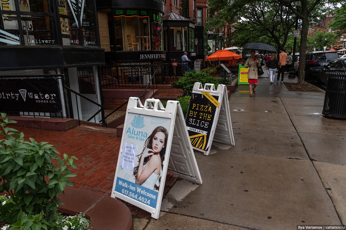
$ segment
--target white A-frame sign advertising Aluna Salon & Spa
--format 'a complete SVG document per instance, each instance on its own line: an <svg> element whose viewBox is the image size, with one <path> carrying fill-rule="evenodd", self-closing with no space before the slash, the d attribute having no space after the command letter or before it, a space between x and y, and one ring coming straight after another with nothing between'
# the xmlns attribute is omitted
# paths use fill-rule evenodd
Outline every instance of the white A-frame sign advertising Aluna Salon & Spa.
<svg viewBox="0 0 346 230"><path fill-rule="evenodd" d="M181 106L130 97L111 197L158 219L167 171L202 183Z"/></svg>

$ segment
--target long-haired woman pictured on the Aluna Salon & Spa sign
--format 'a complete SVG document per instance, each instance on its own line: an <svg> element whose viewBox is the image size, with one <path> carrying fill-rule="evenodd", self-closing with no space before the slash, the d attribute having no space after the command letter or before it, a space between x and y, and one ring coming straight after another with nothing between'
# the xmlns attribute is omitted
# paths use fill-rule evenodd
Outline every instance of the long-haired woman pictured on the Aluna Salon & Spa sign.
<svg viewBox="0 0 346 230"><path fill-rule="evenodd" d="M168 131L163 126L157 126L147 138L142 153L138 155L139 162L133 171L136 184L158 191L167 138Z"/></svg>

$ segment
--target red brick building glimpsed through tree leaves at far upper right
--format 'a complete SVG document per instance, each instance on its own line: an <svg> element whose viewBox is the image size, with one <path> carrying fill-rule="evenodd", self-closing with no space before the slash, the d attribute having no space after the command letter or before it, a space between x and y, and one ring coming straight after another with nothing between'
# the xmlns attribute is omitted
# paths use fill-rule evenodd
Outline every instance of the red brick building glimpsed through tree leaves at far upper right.
<svg viewBox="0 0 346 230"><path fill-rule="evenodd" d="M312 26L309 27L308 30L308 36L313 36L313 34L316 31L322 31L325 33L328 32L333 32L335 34L335 31L333 31L331 28L328 27L328 23L334 19L334 16L332 14L327 14L325 18L320 19L319 22L313 24ZM340 49L345 49L343 46L345 46L345 41L346 41L346 35L341 35L337 41L335 41L335 44L332 46L328 46L328 49L335 49L335 50L340 50Z"/></svg>

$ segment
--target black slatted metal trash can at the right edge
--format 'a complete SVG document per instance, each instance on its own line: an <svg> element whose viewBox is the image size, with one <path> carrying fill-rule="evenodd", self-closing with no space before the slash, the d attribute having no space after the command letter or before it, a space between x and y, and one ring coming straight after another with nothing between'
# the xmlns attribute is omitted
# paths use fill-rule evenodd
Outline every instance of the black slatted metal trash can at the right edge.
<svg viewBox="0 0 346 230"><path fill-rule="evenodd" d="M322 114L346 118L346 73L328 72L326 95Z"/></svg>

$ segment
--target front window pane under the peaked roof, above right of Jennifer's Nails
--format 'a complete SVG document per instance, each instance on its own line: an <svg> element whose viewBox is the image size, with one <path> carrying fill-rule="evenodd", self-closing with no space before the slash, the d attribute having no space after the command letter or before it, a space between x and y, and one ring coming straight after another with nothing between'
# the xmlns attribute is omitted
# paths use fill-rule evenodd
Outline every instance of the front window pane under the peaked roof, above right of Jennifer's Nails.
<svg viewBox="0 0 346 230"><path fill-rule="evenodd" d="M170 27L171 51L187 51L188 28Z"/></svg>

